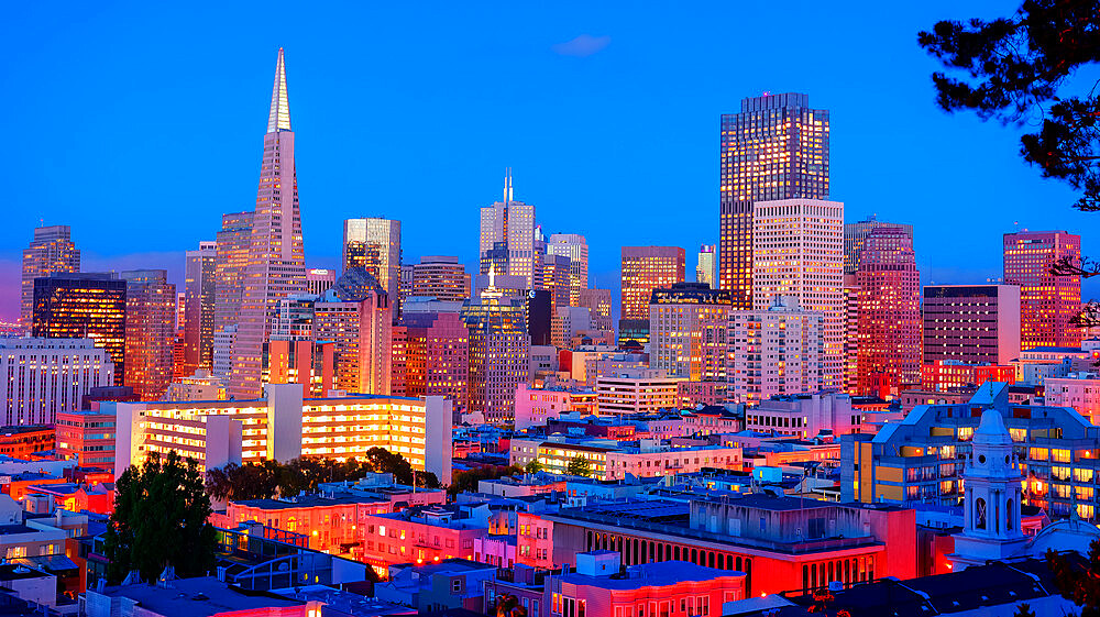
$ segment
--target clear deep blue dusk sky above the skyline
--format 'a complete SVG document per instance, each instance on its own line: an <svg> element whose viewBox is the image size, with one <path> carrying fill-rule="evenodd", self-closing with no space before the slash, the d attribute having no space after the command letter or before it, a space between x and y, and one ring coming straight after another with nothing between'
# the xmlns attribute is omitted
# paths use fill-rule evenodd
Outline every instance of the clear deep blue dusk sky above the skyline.
<svg viewBox="0 0 1100 617"><path fill-rule="evenodd" d="M180 280L183 251L254 205L279 46L311 266L362 216L403 221L407 262L473 263L510 166L548 233L587 236L594 286L617 288L623 245L684 246L693 271L717 241L718 118L765 90L831 110L832 198L913 223L925 283L999 276L1016 224L1100 251L1100 213L1020 161L1018 129L934 104L917 31L1018 4L776 4L6 7L0 317L40 219L73 225L85 269Z"/></svg>

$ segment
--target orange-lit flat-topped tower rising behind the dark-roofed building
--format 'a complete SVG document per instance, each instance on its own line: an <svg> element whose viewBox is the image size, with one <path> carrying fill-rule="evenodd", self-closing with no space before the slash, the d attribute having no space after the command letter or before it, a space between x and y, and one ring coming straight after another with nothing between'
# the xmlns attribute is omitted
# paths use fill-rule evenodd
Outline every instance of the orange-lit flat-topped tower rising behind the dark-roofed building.
<svg viewBox="0 0 1100 617"><path fill-rule="evenodd" d="M649 299L653 289L684 282L684 250L679 246L624 246L622 251L619 340L648 340ZM624 324L624 320L630 323ZM642 342L642 341L639 341Z"/></svg>

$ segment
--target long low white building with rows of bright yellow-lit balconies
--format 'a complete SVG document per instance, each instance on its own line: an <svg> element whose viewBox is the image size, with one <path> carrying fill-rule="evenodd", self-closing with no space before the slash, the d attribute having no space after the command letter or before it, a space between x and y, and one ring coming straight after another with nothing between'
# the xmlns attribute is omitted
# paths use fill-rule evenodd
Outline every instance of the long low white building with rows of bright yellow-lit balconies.
<svg viewBox="0 0 1100 617"><path fill-rule="evenodd" d="M297 384L264 389L265 398L254 400L100 404L118 417L117 474L150 452L172 450L206 470L263 459L363 458L383 448L450 482L451 405L442 397L302 399Z"/></svg>

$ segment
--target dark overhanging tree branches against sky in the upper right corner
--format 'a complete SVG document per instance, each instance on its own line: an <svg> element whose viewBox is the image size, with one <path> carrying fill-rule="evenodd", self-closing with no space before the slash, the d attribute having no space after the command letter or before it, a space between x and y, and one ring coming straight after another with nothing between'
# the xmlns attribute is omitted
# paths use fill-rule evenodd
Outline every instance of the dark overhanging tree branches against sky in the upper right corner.
<svg viewBox="0 0 1100 617"><path fill-rule="evenodd" d="M1100 92L1070 79L1100 60L1096 2L1025 0L1011 16L941 21L917 42L954 73L932 76L941 108L1032 121L1038 131L1021 137L1024 159L1079 190L1077 208L1100 209Z"/></svg>

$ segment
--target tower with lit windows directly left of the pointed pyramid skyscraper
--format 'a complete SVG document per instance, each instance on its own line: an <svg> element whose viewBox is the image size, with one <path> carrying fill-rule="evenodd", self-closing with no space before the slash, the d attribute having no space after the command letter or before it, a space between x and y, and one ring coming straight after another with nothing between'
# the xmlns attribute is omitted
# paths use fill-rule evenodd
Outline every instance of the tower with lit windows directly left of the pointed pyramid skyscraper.
<svg viewBox="0 0 1100 617"><path fill-rule="evenodd" d="M244 268L249 265L249 247L252 245L252 217L253 212L232 212L221 217L213 266L215 332L237 328L241 315Z"/></svg>

